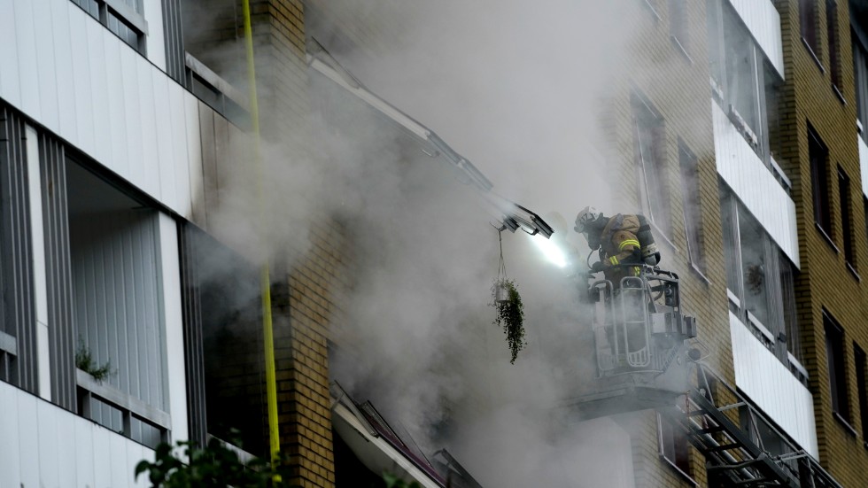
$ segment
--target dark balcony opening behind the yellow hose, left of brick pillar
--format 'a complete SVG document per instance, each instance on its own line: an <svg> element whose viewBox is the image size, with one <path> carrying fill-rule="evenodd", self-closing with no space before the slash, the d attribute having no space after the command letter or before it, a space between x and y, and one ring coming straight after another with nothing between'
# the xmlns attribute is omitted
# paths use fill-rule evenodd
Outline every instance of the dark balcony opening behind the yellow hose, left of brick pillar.
<svg viewBox="0 0 868 488"><path fill-rule="evenodd" d="M192 224L181 236L190 438L240 440L265 455L259 270Z"/></svg>

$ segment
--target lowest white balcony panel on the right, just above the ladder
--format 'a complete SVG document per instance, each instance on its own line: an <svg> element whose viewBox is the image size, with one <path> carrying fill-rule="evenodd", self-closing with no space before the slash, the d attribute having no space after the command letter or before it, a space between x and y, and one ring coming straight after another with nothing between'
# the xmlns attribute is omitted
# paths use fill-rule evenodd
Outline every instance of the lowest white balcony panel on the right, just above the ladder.
<svg viewBox="0 0 868 488"><path fill-rule="evenodd" d="M734 314L729 314L735 383L781 429L818 459L814 403L810 391L765 348Z"/></svg>

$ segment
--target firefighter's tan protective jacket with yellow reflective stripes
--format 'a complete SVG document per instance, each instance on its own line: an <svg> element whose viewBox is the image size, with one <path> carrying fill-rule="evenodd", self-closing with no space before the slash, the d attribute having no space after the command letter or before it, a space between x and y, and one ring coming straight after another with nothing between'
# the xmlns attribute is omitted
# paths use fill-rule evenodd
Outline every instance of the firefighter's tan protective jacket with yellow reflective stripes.
<svg viewBox="0 0 868 488"><path fill-rule="evenodd" d="M636 215L618 213L609 219L603 228L600 236L603 272L615 287L620 286L624 276L639 275L639 267L615 267L622 263L641 262L641 246L637 234L639 217Z"/></svg>

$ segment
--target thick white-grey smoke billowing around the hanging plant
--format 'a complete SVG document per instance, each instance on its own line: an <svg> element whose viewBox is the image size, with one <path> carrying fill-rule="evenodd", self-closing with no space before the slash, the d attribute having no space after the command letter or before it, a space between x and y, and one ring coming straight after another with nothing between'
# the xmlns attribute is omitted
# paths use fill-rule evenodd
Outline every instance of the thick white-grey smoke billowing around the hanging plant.
<svg viewBox="0 0 868 488"><path fill-rule="evenodd" d="M602 129L629 62L634 26L622 7L316 0L306 27L369 89L473 161L500 195L546 218L562 214L560 242L586 252L571 230L580 208L634 210L608 190L615 159ZM570 269L544 258L531 241L539 237L504 233L528 340L510 365L488 306L500 252L495 215L442 159L310 75L314 117L304 134L264 147L267 237L269 252L303 250L312 219L345 222L352 287L339 298L331 376L423 448L446 446L484 485L599 486L613 459L629 469L630 441L615 422L570 423L557 408L595 374L580 367L590 364L590 321ZM249 221L233 227L253 205L250 188L222 195L242 209L217 217L222 237L255 235Z"/></svg>

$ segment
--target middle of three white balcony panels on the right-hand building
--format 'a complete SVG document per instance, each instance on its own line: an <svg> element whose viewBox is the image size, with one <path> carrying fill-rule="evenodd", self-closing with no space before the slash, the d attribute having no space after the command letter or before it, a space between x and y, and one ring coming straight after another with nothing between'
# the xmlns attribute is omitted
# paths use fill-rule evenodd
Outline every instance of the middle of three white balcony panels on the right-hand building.
<svg viewBox="0 0 868 488"><path fill-rule="evenodd" d="M756 156L724 111L713 100L717 174L723 177L741 202L748 207L781 251L801 267L795 224L795 203L781 188L769 168Z"/></svg>

